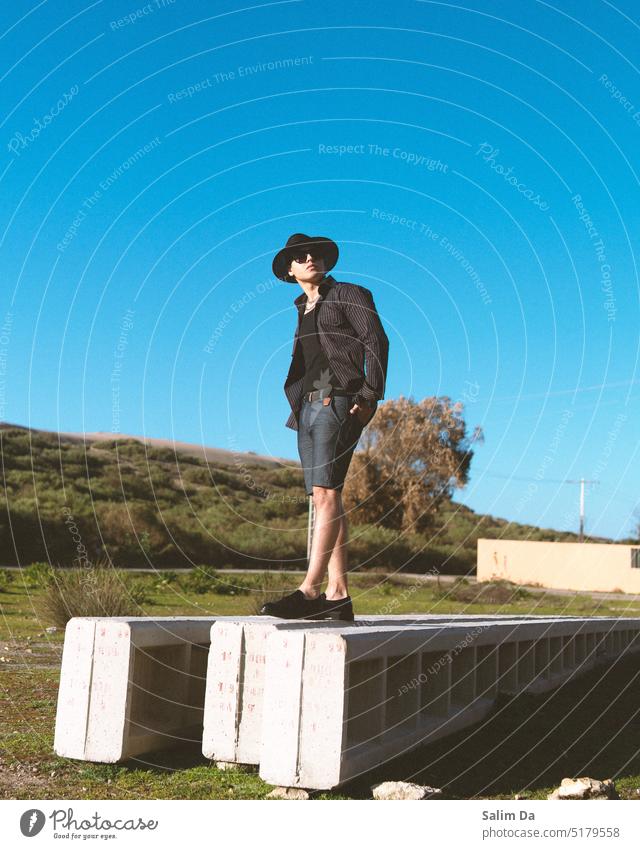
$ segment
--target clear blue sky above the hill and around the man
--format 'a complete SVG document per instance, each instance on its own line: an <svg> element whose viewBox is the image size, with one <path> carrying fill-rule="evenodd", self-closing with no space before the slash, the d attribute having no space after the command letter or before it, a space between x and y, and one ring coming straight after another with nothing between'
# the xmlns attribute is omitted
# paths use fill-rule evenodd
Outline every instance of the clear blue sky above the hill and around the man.
<svg viewBox="0 0 640 849"><path fill-rule="evenodd" d="M271 260L328 235L374 293L386 397L484 430L457 500L577 530L584 477L587 531L628 535L639 24L630 0L3 4L0 417L297 460L300 289Z"/></svg>

